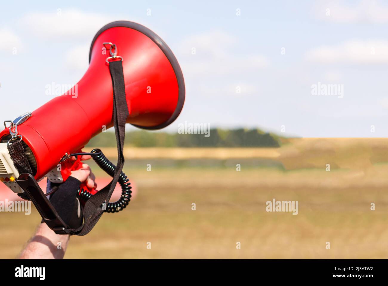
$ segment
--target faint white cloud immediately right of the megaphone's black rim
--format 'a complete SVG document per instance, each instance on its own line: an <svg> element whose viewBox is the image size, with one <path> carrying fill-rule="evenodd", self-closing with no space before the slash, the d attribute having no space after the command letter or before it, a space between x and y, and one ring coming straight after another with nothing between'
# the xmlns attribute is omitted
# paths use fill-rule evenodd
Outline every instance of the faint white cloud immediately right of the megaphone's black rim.
<svg viewBox="0 0 388 286"><path fill-rule="evenodd" d="M221 31L192 35L179 46L180 64L185 74L210 76L241 74L269 65L269 60L261 54L236 53L233 51L236 45L235 37Z"/></svg>

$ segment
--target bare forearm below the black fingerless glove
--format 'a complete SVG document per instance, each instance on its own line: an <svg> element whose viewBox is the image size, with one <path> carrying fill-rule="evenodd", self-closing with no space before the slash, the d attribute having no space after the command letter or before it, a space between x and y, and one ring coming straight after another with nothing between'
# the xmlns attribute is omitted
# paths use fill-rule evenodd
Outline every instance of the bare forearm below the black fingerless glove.
<svg viewBox="0 0 388 286"><path fill-rule="evenodd" d="M41 223L35 235L20 254L21 259L62 259L69 242L69 235L55 234Z"/></svg>

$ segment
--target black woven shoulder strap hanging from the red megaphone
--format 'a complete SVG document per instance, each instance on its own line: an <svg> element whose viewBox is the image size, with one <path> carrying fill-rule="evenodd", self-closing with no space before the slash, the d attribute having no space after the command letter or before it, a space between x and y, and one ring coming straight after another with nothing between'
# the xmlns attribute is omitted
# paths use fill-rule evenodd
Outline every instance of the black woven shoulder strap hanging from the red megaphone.
<svg viewBox="0 0 388 286"><path fill-rule="evenodd" d="M31 200L33 201L34 205L38 209L47 225L58 234L70 233L74 235L85 235L89 233L102 216L104 212L102 208L103 203L105 202L107 204L109 202L113 190L116 187L117 181L120 177L121 170L123 169L125 123L127 117L129 116L129 112L125 98L125 83L122 60L110 61L109 70L111 72L113 85L113 124L117 142L117 167L114 171L113 180L107 186L98 191L95 195L90 197L90 199L86 202L83 209L83 216L85 220L82 226L80 226L78 229L69 229L69 227L64 224L63 220L59 217L54 207L45 197L45 194L43 194L34 177L31 175L32 171L26 155L24 154L24 149L21 145L21 142L18 142L20 144L13 143L8 146L10 156L20 174L19 178L16 180L17 183L24 189L24 191L26 191L29 197L31 197ZM22 155L24 155L24 157Z"/></svg>

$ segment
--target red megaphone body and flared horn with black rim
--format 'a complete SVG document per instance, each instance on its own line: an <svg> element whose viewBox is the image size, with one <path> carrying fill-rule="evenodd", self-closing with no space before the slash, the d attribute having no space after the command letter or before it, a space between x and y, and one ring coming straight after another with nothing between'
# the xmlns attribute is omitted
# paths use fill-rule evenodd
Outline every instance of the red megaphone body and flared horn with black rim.
<svg viewBox="0 0 388 286"><path fill-rule="evenodd" d="M36 180L56 167L66 153L80 150L103 128L113 126L113 89L107 64L112 47L123 59L127 123L144 129L160 129L180 114L185 85L170 48L142 25L128 21L110 23L95 35L89 68L76 88L53 98L31 116L22 116L19 122L14 122ZM0 144L10 138L10 130L6 128L0 133ZM4 161L9 163L2 158L0 150L0 174L2 160L4 164L7 163ZM12 175L7 167L4 169L3 174Z"/></svg>

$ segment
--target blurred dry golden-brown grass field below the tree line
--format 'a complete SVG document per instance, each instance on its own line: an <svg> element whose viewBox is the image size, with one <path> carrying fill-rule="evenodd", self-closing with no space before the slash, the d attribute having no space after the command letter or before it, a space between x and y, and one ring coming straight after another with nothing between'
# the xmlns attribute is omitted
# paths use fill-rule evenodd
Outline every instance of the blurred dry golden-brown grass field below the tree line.
<svg viewBox="0 0 388 286"><path fill-rule="evenodd" d="M137 196L86 237L71 237L65 258L388 258L388 139L133 148L126 157ZM297 200L298 215L266 212L272 198ZM0 213L0 258L16 257L39 221L35 209Z"/></svg>

